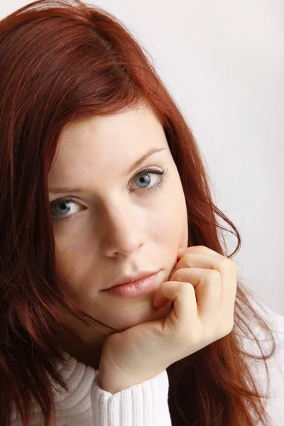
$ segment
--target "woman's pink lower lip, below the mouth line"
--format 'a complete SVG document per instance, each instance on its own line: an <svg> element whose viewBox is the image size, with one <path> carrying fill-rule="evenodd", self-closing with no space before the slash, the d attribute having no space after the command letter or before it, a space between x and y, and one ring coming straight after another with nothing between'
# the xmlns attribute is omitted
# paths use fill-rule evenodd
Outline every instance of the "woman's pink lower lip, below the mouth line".
<svg viewBox="0 0 284 426"><path fill-rule="evenodd" d="M159 272L160 271L152 273L152 275L148 275L140 280L132 281L131 283L114 285L102 291L109 293L109 295L119 297L136 297L143 293L148 293L157 287L156 283L158 282Z"/></svg>

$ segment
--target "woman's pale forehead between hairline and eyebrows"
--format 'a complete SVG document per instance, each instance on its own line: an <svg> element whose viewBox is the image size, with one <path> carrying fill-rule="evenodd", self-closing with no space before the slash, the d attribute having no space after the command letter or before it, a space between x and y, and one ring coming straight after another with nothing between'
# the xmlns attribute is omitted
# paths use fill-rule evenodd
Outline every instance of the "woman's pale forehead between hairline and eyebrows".
<svg viewBox="0 0 284 426"><path fill-rule="evenodd" d="M166 147L163 126L148 106L111 116L93 116L63 129L48 175L50 185L90 174L126 170L149 148ZM79 176L80 174L80 176ZM64 181L64 182L63 182ZM68 182L69 183L69 182Z"/></svg>

